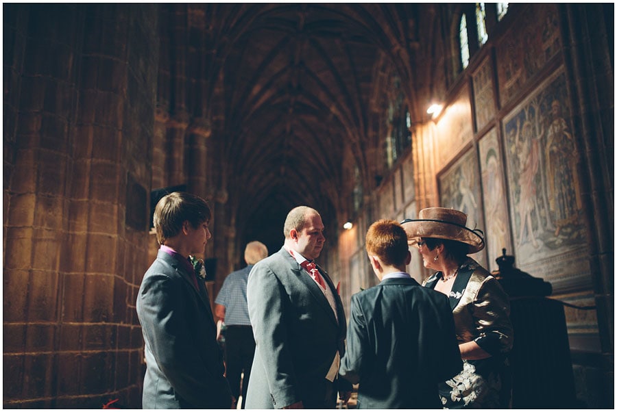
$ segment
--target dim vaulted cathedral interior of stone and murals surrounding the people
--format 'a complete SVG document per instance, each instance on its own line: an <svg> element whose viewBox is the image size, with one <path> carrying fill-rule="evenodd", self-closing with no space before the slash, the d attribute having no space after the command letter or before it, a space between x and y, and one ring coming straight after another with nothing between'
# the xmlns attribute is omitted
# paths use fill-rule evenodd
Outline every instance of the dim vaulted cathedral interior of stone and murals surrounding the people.
<svg viewBox="0 0 617 412"><path fill-rule="evenodd" d="M557 325L537 368L572 387L532 406L614 408L612 3L4 3L3 90L4 408L141 408L136 294L176 190L213 211L213 307L298 205L346 311L372 222L459 209L487 270L505 250L550 285L521 322Z"/></svg>

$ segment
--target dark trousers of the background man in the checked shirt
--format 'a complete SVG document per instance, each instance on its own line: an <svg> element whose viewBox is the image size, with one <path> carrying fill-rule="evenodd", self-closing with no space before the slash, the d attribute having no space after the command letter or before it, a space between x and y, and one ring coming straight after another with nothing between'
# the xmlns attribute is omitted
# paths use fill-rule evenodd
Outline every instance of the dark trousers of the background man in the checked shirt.
<svg viewBox="0 0 617 412"><path fill-rule="evenodd" d="M255 339L251 326L227 326L225 330L225 363L227 380L232 395L238 399L242 394L242 409L246 403L246 389L251 376L255 355ZM244 379L241 378L244 371ZM242 389L241 389L242 388Z"/></svg>

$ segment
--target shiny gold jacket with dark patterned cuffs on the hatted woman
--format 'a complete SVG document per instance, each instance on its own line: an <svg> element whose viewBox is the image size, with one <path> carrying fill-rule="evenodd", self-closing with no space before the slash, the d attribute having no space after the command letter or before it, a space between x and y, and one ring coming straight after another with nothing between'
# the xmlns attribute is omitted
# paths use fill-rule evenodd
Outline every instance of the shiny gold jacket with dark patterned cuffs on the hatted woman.
<svg viewBox="0 0 617 412"><path fill-rule="evenodd" d="M423 285L434 289L441 276L436 272ZM468 257L459 266L449 298L459 344L474 340L492 356L509 352L513 343L509 298L485 268Z"/></svg>

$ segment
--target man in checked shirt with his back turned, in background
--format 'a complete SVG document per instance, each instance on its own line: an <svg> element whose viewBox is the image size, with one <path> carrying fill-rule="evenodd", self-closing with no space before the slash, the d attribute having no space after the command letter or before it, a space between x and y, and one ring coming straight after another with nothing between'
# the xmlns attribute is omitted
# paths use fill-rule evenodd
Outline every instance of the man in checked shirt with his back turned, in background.
<svg viewBox="0 0 617 412"><path fill-rule="evenodd" d="M228 274L215 300L215 315L225 323L226 376L233 396L239 399L242 395L242 409L246 404L246 390L255 355L255 339L246 304L246 284L253 265L267 255L265 244L257 241L247 244L244 250L247 266Z"/></svg>

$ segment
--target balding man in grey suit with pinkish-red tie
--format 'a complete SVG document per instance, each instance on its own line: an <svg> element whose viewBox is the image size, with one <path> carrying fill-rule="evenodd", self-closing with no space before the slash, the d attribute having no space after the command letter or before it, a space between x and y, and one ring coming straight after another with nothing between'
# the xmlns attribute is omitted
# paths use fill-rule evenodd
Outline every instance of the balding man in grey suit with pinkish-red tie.
<svg viewBox="0 0 617 412"><path fill-rule="evenodd" d="M247 302L256 350L247 409L333 409L351 384L339 379L345 353L343 304L315 263L326 238L319 213L299 206L287 215L285 244L255 264Z"/></svg>

